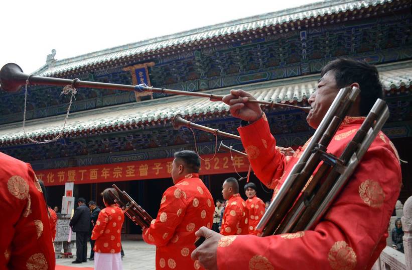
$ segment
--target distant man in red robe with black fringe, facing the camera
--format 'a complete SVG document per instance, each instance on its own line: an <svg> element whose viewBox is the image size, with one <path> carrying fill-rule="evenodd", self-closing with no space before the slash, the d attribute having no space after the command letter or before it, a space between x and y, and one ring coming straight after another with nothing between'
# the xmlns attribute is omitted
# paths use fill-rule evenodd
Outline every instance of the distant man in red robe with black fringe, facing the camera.
<svg viewBox="0 0 412 270"><path fill-rule="evenodd" d="M249 234L257 235L256 226L264 214L264 203L256 196L256 185L252 182L247 183L244 186L244 193L247 200L246 208L249 212Z"/></svg>

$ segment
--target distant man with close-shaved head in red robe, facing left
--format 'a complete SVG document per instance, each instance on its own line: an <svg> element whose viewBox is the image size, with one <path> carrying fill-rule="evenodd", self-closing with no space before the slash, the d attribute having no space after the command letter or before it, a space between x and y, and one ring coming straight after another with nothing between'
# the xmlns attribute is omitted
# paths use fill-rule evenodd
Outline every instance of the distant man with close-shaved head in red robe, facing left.
<svg viewBox="0 0 412 270"><path fill-rule="evenodd" d="M234 177L227 178L223 182L222 188L223 199L228 201L223 212L220 234L248 234L248 211L245 202L240 197L237 179Z"/></svg>

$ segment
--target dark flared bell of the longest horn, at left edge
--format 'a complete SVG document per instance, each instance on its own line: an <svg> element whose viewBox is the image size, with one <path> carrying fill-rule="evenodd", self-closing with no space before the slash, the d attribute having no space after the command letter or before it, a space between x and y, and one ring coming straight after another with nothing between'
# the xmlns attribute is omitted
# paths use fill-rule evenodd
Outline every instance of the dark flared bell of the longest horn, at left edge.
<svg viewBox="0 0 412 270"><path fill-rule="evenodd" d="M29 75L23 73L23 69L15 63L8 63L0 70L0 84L6 92L19 91L28 78Z"/></svg>

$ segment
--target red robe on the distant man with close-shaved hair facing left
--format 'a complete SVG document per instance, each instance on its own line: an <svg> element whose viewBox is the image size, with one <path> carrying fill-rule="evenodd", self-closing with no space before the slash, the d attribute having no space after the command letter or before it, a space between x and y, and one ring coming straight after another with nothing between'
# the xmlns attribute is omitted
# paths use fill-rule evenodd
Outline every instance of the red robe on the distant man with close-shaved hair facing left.
<svg viewBox="0 0 412 270"><path fill-rule="evenodd" d="M220 234L248 234L248 211L240 194L233 194L226 202Z"/></svg>

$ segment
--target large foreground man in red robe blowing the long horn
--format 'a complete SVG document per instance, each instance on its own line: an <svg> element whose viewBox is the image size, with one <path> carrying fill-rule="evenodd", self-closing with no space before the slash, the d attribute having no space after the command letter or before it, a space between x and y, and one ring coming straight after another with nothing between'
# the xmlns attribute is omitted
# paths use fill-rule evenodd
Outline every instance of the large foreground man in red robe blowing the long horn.
<svg viewBox="0 0 412 270"><path fill-rule="evenodd" d="M322 69L318 90L310 97L309 125L317 128L340 88L360 88L352 109L339 127L328 152L339 156L354 136L382 87L374 66L337 59ZM260 107L241 90L223 100L233 116L241 118L239 134L253 171L277 192L300 157L276 151L276 140ZM305 148L305 146L303 147ZM347 185L313 230L267 237L222 236L206 228L196 235L206 240L192 253L205 268L213 269L370 269L386 245L387 227L401 186L401 171L393 144L380 132L349 177ZM367 220L367 222L364 222Z"/></svg>

